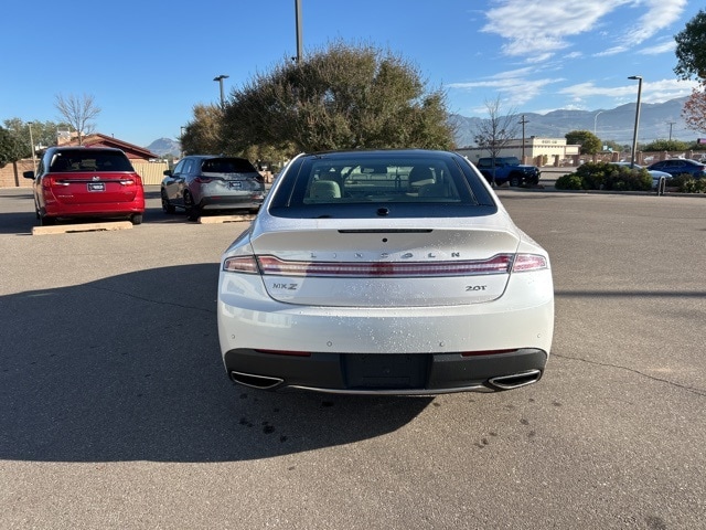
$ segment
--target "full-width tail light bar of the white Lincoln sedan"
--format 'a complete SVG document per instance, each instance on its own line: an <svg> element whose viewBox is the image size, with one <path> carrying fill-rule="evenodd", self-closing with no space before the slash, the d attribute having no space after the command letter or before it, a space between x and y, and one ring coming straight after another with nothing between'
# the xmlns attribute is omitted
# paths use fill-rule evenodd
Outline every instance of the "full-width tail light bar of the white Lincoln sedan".
<svg viewBox="0 0 706 530"><path fill-rule="evenodd" d="M507 274L548 268L544 256L536 254L496 254L488 259L458 262L299 262L278 257L228 257L223 269L272 276L311 277L448 277Z"/></svg>

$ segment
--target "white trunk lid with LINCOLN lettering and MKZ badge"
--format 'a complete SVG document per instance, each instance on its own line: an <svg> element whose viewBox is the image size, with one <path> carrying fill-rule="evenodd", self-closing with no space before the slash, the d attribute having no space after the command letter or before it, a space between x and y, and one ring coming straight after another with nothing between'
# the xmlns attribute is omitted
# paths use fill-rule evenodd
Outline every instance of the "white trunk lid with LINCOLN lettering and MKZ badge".
<svg viewBox="0 0 706 530"><path fill-rule="evenodd" d="M490 225L317 226L270 231L252 240L272 298L335 307L496 299L505 290L517 245L516 233Z"/></svg>

